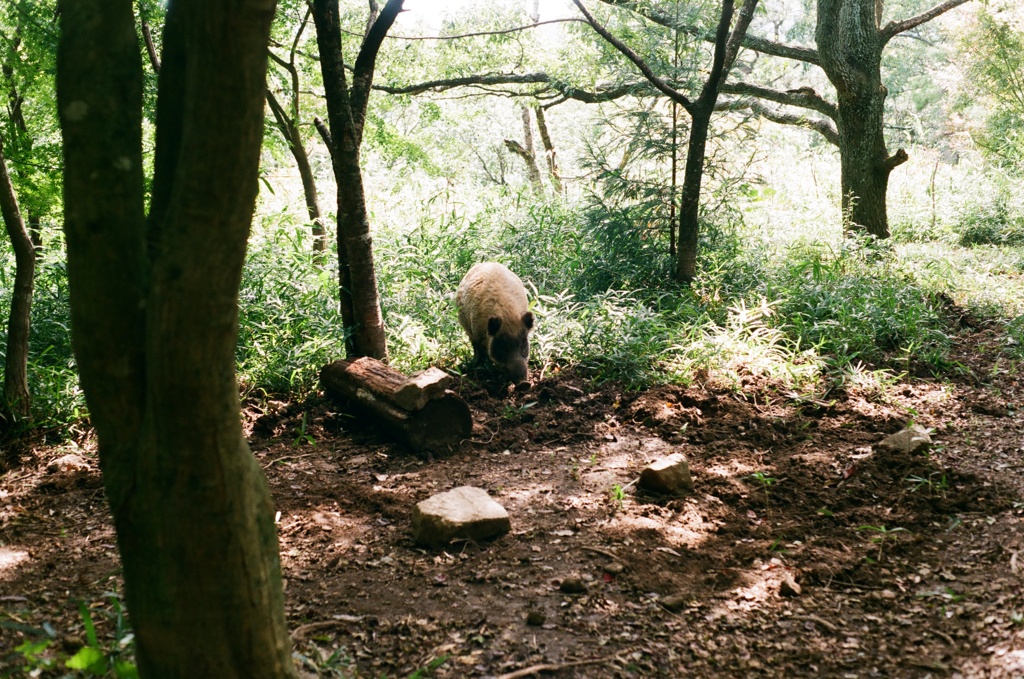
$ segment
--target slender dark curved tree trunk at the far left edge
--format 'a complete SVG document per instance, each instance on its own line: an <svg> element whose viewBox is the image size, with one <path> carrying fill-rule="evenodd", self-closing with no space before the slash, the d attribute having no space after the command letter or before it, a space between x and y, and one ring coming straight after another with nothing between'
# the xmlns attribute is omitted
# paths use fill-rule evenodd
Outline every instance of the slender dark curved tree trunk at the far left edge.
<svg viewBox="0 0 1024 679"><path fill-rule="evenodd" d="M22 218L14 185L7 173L7 161L0 144L0 214L14 249L14 291L7 321L7 351L4 360L4 401L0 415L7 426L29 416L29 334L32 291L36 275L36 248Z"/></svg>

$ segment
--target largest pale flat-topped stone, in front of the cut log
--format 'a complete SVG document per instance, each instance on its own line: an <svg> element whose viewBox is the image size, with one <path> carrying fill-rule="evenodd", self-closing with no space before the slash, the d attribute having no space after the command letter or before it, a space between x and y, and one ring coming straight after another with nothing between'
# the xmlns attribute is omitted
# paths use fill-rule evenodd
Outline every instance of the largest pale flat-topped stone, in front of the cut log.
<svg viewBox="0 0 1024 679"><path fill-rule="evenodd" d="M413 508L413 539L441 547L453 540L486 540L512 528L505 508L483 489L463 485L440 493Z"/></svg>

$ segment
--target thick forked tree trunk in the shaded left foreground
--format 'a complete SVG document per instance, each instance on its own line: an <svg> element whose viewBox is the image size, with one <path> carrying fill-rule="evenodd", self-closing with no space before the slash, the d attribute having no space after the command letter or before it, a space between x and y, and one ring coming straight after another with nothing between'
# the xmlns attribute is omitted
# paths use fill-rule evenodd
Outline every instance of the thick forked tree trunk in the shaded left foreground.
<svg viewBox="0 0 1024 679"><path fill-rule="evenodd" d="M72 335L145 677L290 677L273 508L234 378L273 0L168 9L147 260L129 0L61 3Z"/></svg>

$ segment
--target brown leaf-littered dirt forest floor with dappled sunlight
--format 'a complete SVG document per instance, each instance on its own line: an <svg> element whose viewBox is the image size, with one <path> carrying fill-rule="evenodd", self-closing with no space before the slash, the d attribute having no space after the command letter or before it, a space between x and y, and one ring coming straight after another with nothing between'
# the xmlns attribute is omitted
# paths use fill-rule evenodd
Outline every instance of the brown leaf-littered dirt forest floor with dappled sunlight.
<svg viewBox="0 0 1024 679"><path fill-rule="evenodd" d="M353 431L323 399L249 407L304 671L1024 675L1024 383L992 329L965 333L967 370L873 397L758 380L631 392L563 373L525 393L462 380L473 438L433 460ZM877 448L911 420L933 429L929 454ZM670 452L695 491L638 495L639 471ZM110 593L123 586L94 455L84 432L0 477L0 676L85 643L79 601L118 648ZM459 485L487 490L511 533L416 547L415 503ZM585 591L563 593L567 579ZM26 665L26 642L45 640Z"/></svg>

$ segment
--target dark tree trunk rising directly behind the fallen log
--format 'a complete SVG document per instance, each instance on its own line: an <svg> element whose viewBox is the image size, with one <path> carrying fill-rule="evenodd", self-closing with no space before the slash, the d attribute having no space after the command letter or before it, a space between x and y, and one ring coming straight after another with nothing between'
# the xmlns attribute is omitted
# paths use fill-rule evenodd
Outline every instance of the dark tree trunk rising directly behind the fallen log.
<svg viewBox="0 0 1024 679"><path fill-rule="evenodd" d="M349 356L386 360L387 343L377 292L373 240L359 169L365 111L357 111L358 107L352 105L353 97L349 96L341 55L338 0L314 0L313 22L334 144L331 158L338 184L338 278L342 320L346 325L346 350Z"/></svg>

